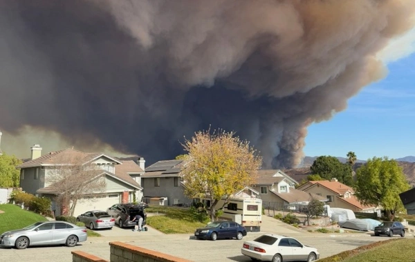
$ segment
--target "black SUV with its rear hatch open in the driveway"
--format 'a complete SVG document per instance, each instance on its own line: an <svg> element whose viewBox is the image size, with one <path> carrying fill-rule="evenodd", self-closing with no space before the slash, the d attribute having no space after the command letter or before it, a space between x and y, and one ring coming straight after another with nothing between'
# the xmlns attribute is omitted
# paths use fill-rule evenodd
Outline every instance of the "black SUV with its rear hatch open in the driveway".
<svg viewBox="0 0 415 262"><path fill-rule="evenodd" d="M139 214L142 216L142 226L146 224L147 214L145 214L145 204L122 203L111 206L107 209L107 213L116 221L120 228L128 228L136 225L136 221L132 222L134 217Z"/></svg>

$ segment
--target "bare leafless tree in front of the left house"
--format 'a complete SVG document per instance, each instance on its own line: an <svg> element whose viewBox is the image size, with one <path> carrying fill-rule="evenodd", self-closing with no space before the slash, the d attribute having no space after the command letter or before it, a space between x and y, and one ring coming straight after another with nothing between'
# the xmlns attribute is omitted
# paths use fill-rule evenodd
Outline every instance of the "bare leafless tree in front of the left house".
<svg viewBox="0 0 415 262"><path fill-rule="evenodd" d="M76 150L61 152L53 157L53 166L48 168L46 183L56 194L64 215L73 216L77 202L104 192L106 188L104 170L88 162L88 155Z"/></svg>

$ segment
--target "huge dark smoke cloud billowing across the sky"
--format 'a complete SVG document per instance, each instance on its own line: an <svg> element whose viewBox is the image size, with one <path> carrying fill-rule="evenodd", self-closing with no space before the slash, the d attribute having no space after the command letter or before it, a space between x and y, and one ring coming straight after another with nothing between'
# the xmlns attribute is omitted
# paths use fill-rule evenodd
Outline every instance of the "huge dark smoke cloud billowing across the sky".
<svg viewBox="0 0 415 262"><path fill-rule="evenodd" d="M412 0L0 1L0 126L91 139L150 163L235 130L292 167L306 128L385 73Z"/></svg>

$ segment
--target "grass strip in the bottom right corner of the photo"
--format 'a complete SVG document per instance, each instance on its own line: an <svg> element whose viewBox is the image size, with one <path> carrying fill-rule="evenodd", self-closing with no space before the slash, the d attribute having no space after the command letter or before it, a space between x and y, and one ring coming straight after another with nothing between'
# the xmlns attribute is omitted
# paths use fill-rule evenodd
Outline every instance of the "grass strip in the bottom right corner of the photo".
<svg viewBox="0 0 415 262"><path fill-rule="evenodd" d="M389 239L320 259L319 262L413 262L415 239Z"/></svg>

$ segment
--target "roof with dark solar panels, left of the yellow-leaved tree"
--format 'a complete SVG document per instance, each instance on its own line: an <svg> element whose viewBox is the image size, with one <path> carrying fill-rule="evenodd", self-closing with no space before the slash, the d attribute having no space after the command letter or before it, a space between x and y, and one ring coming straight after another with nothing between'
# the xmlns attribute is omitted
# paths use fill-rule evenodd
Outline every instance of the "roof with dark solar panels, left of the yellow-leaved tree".
<svg viewBox="0 0 415 262"><path fill-rule="evenodd" d="M184 160L162 160L158 161L145 169L145 174L141 177L178 177L178 173L185 165Z"/></svg>

